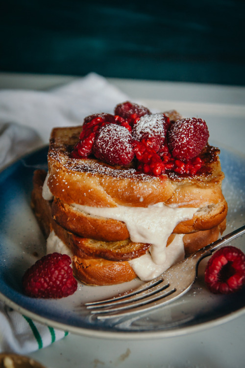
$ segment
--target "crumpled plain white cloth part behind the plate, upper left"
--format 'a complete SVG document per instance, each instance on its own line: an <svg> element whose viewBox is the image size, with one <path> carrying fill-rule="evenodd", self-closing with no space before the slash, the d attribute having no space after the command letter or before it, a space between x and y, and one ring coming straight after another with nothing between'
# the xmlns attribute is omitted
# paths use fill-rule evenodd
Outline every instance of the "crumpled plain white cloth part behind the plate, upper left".
<svg viewBox="0 0 245 368"><path fill-rule="evenodd" d="M113 113L126 99L95 73L49 91L0 90L0 167L48 143L52 128L81 125L95 112Z"/></svg>

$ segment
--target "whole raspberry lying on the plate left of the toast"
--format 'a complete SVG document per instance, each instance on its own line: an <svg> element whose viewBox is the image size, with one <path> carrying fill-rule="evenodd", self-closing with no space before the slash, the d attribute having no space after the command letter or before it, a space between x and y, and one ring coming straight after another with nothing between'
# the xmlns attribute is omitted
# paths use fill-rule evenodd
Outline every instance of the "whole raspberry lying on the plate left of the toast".
<svg viewBox="0 0 245 368"><path fill-rule="evenodd" d="M25 272L22 283L26 295L33 298L62 298L77 289L71 258L52 253L42 257Z"/></svg>

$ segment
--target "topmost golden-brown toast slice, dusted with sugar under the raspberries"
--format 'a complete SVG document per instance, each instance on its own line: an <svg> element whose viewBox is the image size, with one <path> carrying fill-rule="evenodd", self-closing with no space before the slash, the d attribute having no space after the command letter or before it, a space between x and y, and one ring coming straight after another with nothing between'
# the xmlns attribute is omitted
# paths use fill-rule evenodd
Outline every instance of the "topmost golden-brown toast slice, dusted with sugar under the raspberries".
<svg viewBox="0 0 245 368"><path fill-rule="evenodd" d="M159 202L180 207L205 207L224 201L219 149L206 146L204 164L194 176L138 173L134 162L112 166L96 158L73 158L71 152L82 127L55 128L51 132L48 186L66 204L92 207L118 205L147 207Z"/></svg>

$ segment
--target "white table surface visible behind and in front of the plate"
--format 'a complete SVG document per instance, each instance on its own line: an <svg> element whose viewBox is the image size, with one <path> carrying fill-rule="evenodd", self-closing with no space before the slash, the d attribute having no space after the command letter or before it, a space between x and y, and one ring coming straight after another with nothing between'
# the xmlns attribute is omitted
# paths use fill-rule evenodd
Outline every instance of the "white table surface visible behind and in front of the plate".
<svg viewBox="0 0 245 368"><path fill-rule="evenodd" d="M75 77L0 73L0 89L46 89ZM175 108L204 118L212 143L245 157L245 88L236 86L109 79L131 101L149 108ZM245 314L183 336L152 340L111 340L69 334L29 354L47 368L244 368Z"/></svg>

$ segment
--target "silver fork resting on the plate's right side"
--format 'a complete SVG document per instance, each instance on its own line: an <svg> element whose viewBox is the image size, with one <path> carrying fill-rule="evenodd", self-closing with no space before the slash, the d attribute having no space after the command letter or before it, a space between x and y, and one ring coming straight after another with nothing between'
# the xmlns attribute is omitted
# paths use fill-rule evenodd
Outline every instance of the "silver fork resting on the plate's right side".
<svg viewBox="0 0 245 368"><path fill-rule="evenodd" d="M86 308L98 319L108 319L151 311L185 294L196 280L199 262L217 248L245 233L245 225L198 250L182 262L173 265L160 276L137 289L110 299L86 303Z"/></svg>

